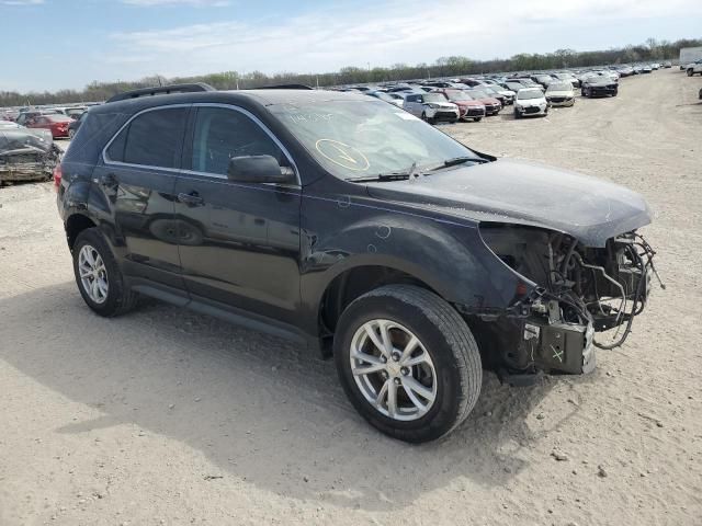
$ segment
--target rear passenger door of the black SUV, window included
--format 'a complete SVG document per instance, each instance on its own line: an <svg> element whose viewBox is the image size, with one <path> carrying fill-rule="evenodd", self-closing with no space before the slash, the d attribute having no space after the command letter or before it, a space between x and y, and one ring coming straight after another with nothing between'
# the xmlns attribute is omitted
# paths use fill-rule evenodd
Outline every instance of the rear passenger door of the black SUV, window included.
<svg viewBox="0 0 702 526"><path fill-rule="evenodd" d="M181 290L173 192L189 112L189 105L177 105L137 114L107 145L93 172L125 273Z"/></svg>

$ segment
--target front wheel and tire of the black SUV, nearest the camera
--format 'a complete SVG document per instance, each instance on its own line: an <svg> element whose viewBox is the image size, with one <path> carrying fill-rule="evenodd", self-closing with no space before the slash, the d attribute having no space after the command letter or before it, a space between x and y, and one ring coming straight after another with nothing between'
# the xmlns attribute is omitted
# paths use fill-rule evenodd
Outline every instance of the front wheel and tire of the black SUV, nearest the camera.
<svg viewBox="0 0 702 526"><path fill-rule="evenodd" d="M349 305L335 334L335 362L359 413L410 443L437 439L461 424L483 381L465 320L411 285L384 286Z"/></svg>

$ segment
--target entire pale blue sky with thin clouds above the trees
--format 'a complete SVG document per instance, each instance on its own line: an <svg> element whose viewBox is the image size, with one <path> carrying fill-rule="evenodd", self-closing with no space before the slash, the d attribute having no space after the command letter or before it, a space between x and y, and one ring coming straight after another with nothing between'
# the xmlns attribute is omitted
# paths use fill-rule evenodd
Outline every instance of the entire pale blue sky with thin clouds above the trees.
<svg viewBox="0 0 702 526"><path fill-rule="evenodd" d="M0 90L702 36L702 0L0 0Z"/></svg>

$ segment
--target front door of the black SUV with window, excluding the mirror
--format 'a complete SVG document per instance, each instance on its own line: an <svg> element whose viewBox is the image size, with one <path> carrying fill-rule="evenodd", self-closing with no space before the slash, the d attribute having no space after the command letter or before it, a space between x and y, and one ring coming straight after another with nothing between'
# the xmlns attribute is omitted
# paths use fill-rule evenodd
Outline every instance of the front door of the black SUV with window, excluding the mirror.
<svg viewBox="0 0 702 526"><path fill-rule="evenodd" d="M229 159L290 155L252 114L196 104L176 185L180 261L193 299L293 322L299 301L299 184L229 181ZM298 180L299 181L299 180Z"/></svg>

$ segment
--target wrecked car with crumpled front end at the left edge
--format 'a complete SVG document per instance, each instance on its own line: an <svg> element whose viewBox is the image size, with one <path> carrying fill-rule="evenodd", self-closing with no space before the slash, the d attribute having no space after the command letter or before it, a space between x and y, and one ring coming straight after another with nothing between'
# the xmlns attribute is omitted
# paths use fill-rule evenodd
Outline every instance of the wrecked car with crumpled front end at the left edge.
<svg viewBox="0 0 702 526"><path fill-rule="evenodd" d="M52 178L61 150L48 130L11 129L0 132L0 185Z"/></svg>

